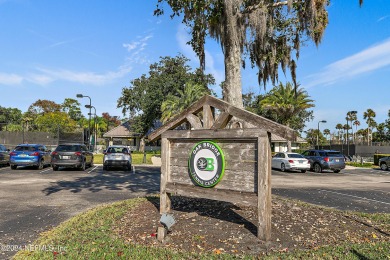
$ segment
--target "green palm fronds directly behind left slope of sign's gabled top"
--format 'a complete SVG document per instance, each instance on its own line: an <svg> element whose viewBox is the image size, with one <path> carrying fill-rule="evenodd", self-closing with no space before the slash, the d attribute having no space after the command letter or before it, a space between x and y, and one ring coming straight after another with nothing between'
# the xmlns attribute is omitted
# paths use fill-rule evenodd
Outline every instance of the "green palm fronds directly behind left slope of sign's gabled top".
<svg viewBox="0 0 390 260"><path fill-rule="evenodd" d="M179 90L177 96L169 95L161 104L161 121L169 121L206 94L210 94L210 91L203 85L186 83L183 91Z"/></svg>

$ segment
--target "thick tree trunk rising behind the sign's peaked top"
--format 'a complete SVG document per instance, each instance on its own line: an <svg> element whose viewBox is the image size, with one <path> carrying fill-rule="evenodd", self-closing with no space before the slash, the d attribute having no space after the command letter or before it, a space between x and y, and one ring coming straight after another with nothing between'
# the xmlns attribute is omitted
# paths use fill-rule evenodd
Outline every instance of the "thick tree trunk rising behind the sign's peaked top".
<svg viewBox="0 0 390 260"><path fill-rule="evenodd" d="M226 102L243 108L241 83L241 40L238 24L239 10L235 0L225 0L226 24L224 28L223 51L225 58L225 82L222 95Z"/></svg>

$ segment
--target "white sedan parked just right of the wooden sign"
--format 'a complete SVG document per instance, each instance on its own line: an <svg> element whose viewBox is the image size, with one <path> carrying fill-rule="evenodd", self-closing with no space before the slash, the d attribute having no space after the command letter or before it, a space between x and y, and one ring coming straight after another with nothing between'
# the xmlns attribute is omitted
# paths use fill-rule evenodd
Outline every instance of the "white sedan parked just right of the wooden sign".
<svg viewBox="0 0 390 260"><path fill-rule="evenodd" d="M272 157L272 168L282 172L290 170L306 172L310 170L310 162L299 153L277 153Z"/></svg>

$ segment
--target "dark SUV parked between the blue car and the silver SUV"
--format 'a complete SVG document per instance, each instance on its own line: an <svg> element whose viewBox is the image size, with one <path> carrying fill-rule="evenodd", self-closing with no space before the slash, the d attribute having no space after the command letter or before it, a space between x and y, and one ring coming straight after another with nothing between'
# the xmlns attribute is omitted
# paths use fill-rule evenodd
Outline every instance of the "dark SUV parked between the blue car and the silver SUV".
<svg viewBox="0 0 390 260"><path fill-rule="evenodd" d="M51 167L58 171L60 167L85 170L93 166L93 153L84 144L60 144L51 153Z"/></svg>

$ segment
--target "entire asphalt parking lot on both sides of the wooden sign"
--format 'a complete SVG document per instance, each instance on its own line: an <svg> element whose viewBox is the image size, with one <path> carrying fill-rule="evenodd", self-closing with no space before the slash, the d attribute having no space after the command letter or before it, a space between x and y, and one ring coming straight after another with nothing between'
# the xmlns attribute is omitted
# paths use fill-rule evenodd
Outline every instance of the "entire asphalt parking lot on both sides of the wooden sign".
<svg viewBox="0 0 390 260"><path fill-rule="evenodd" d="M87 209L119 200L157 194L160 168L132 171L54 172L0 168L0 245L31 244L39 233ZM272 173L272 193L341 210L390 213L390 172L347 169L341 173ZM0 258L15 252L0 251Z"/></svg>

